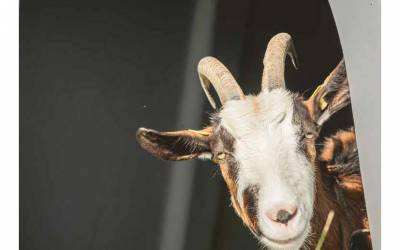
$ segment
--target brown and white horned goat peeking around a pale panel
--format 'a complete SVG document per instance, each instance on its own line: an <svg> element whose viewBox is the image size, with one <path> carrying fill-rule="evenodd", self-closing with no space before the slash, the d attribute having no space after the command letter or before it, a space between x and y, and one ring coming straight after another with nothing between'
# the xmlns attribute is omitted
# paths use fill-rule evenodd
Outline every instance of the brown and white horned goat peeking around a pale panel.
<svg viewBox="0 0 400 250"><path fill-rule="evenodd" d="M331 181L329 170L335 169L327 165L337 157L329 159L329 142L323 161L316 150L322 125L350 102L345 63L341 60L312 96L304 99L285 88L287 55L297 68L290 35L275 35L263 59L262 90L255 96L245 95L216 58L201 59L201 86L214 109L210 85L222 105L211 116L210 125L173 132L139 128L136 137L142 148L158 158L197 158L219 165L234 210L264 246L315 247L316 236L333 210L336 216L324 247L349 249L351 234L363 228L364 214L358 210L363 200L349 199L346 204L357 209L347 214L332 188L342 189L340 176L336 175L337 182ZM347 201L347 193L341 198Z"/></svg>

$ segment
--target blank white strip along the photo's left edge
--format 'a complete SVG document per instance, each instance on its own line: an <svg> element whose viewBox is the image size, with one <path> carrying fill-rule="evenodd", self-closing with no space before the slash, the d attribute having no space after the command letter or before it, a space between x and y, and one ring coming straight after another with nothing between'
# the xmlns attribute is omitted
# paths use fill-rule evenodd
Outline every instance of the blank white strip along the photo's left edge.
<svg viewBox="0 0 400 250"><path fill-rule="evenodd" d="M0 0L0 249L18 249L19 2Z"/></svg>

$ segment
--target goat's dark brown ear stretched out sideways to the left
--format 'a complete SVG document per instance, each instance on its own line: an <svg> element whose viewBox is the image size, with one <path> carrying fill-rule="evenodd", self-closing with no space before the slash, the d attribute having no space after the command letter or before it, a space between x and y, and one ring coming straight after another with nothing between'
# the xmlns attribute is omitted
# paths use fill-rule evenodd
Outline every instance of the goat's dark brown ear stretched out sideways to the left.
<svg viewBox="0 0 400 250"><path fill-rule="evenodd" d="M158 132L139 128L136 139L140 146L152 155L170 161L190 160L194 158L211 159L209 146L212 128L203 130L180 130Z"/></svg>

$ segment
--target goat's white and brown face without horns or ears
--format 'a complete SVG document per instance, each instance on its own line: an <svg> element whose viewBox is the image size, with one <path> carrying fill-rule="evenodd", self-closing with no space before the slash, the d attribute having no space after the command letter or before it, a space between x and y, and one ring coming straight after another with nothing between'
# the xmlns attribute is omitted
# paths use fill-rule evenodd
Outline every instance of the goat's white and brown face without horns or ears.
<svg viewBox="0 0 400 250"><path fill-rule="evenodd" d="M300 247L313 210L314 172L295 101L284 89L229 101L216 115L211 143L236 212L275 248Z"/></svg>

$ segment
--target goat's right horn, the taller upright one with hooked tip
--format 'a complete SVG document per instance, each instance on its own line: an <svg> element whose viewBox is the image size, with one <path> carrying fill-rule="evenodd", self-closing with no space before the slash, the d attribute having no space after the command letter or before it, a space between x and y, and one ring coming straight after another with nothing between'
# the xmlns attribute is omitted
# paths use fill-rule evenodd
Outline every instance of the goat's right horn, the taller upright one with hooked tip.
<svg viewBox="0 0 400 250"><path fill-rule="evenodd" d="M297 69L297 55L290 35L279 33L271 38L263 60L262 90L285 87L285 60L287 54L289 54L293 66Z"/></svg>

